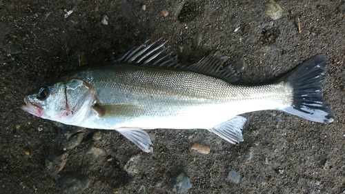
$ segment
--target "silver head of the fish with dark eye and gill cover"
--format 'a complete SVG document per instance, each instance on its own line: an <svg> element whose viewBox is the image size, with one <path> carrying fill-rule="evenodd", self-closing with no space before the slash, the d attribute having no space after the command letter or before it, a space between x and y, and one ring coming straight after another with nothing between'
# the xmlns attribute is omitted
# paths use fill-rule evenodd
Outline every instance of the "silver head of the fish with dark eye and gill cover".
<svg viewBox="0 0 345 194"><path fill-rule="evenodd" d="M88 83L69 79L32 91L24 97L21 109L43 119L76 125L95 102L95 90Z"/></svg>

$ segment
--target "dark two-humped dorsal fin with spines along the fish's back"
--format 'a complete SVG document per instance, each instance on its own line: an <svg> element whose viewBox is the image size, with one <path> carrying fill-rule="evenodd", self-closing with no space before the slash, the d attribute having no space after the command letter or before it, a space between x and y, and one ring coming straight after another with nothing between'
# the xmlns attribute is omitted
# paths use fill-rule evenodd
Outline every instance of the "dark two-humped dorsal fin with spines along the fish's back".
<svg viewBox="0 0 345 194"><path fill-rule="evenodd" d="M175 57L171 57L171 52L169 53L167 51L167 42L168 41L161 42L161 39L159 39L148 45L148 41L146 41L138 48L132 48L115 62L189 70L217 77L229 83L233 83L239 79L239 76L232 66L223 66L226 59L228 59L228 57L224 56L223 52L215 52L213 55L204 57L197 62L197 64L184 66L179 64Z"/></svg>

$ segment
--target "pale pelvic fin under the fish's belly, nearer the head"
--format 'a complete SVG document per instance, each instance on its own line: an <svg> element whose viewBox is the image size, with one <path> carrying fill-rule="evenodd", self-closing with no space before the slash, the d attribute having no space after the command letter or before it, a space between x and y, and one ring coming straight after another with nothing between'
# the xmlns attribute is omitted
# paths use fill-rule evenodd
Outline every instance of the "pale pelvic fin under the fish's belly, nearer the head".
<svg viewBox="0 0 345 194"><path fill-rule="evenodd" d="M116 129L121 135L124 135L130 142L133 142L142 151L146 153L152 153L153 148L150 146L152 145L150 137L148 137L148 133L145 130L140 130L137 128L117 128Z"/></svg>

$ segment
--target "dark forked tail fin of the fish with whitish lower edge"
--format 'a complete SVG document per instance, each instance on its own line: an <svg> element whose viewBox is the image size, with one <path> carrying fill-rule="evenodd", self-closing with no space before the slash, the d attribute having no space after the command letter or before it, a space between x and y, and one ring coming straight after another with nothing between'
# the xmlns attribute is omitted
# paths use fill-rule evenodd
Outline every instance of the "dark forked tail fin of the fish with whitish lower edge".
<svg viewBox="0 0 345 194"><path fill-rule="evenodd" d="M313 122L333 122L333 111L322 97L326 77L326 54L316 55L282 77L293 88L293 103L283 111Z"/></svg>

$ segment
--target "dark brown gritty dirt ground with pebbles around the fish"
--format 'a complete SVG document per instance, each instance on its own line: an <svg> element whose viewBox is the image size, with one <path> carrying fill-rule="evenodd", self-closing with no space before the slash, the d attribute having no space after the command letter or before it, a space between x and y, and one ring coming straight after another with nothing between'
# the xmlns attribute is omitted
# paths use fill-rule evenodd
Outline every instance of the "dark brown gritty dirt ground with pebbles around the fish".
<svg viewBox="0 0 345 194"><path fill-rule="evenodd" d="M277 1L276 20L267 3L0 0L0 193L345 193L345 1ZM157 129L148 131L147 154L116 131L64 126L19 108L28 91L160 37L184 64L225 52L228 64L244 66L245 84L326 53L334 122L248 113L240 144L206 130ZM177 184L181 173L191 188Z"/></svg>

